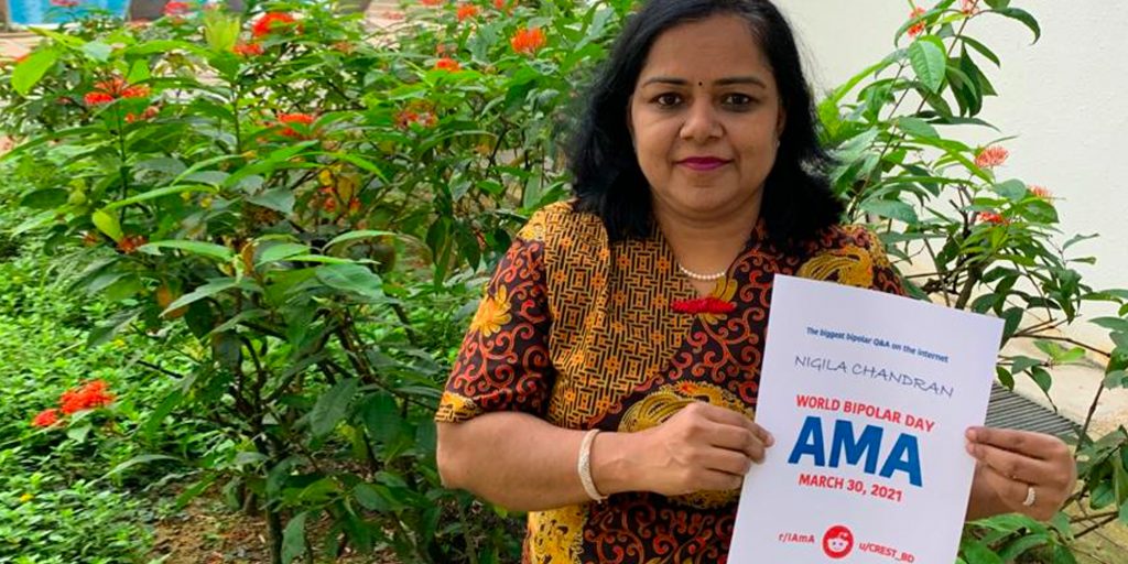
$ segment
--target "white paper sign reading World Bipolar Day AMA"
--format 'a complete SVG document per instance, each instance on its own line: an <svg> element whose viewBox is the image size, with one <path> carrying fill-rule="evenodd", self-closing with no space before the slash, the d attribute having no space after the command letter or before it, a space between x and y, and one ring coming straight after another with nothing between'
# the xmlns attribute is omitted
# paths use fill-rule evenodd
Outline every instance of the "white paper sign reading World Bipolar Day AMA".
<svg viewBox="0 0 1128 564"><path fill-rule="evenodd" d="M1003 321L776 276L729 564L955 561Z"/></svg>

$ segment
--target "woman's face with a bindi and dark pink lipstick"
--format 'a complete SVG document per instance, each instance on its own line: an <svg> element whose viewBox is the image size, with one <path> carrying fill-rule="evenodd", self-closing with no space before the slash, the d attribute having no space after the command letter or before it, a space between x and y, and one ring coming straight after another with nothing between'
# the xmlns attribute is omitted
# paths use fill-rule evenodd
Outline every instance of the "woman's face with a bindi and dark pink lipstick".
<svg viewBox="0 0 1128 564"><path fill-rule="evenodd" d="M710 220L758 205L784 117L744 19L719 15L662 33L629 106L655 211Z"/></svg>

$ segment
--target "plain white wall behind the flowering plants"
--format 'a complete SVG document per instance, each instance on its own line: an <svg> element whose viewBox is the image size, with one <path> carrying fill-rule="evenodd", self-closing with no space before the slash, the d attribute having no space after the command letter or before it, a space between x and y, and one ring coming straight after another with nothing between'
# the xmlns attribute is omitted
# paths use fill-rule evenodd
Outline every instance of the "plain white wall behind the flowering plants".
<svg viewBox="0 0 1128 564"><path fill-rule="evenodd" d="M819 91L890 53L909 12L906 0L776 1L800 36ZM1031 45L1025 26L998 16L968 26L1003 63L1002 69L984 67L999 97L987 98L980 117L1004 134L1020 135L1005 143L1011 158L998 173L1059 196L1066 237L1101 233L1074 247L1078 255L1099 257L1096 266L1078 268L1090 285L1128 288L1128 2L1014 0L1012 6L1038 18L1042 37L1037 44ZM966 141L996 136L985 129ZM1090 310L1093 316L1111 312ZM1086 338L1101 335L1099 328L1070 331Z"/></svg>

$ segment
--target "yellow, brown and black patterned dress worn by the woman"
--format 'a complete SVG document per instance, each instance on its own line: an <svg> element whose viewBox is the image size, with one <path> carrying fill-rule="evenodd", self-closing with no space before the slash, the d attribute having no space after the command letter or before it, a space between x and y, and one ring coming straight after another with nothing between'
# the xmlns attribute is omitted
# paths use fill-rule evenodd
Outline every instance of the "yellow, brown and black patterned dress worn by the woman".
<svg viewBox="0 0 1128 564"><path fill-rule="evenodd" d="M728 314L679 314L696 298L655 232L608 244L570 203L536 213L497 266L435 418L521 411L566 429L632 432L706 400L755 415L775 274L901 293L876 238L834 227L784 254L763 221L713 296ZM515 431L514 431L515 432ZM723 563L732 492L613 495L529 514L529 564Z"/></svg>

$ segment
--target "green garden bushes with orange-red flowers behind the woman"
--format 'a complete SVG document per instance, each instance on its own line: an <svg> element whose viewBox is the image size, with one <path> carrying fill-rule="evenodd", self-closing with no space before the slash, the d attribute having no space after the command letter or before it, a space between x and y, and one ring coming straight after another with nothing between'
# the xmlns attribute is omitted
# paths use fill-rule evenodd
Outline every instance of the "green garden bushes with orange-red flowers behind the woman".
<svg viewBox="0 0 1128 564"><path fill-rule="evenodd" d="M65 255L72 288L96 298L97 315L55 311L98 319L91 351L117 338L160 351L130 372L164 393L133 404L144 417L122 416L131 458L107 466L191 464L179 501L213 491L262 511L273 562L346 547L513 561L517 521L441 487L431 416L490 266L529 213L566 197L559 140L631 6L422 0L382 32L321 3L177 6L151 25L39 30L0 86L3 126L21 140L8 159L30 183L20 230ZM986 17L1040 34L1007 1L941 1L825 97L845 219L915 264L916 297L1037 341L1043 356L1001 359L1004 384L1048 389L1054 367L1091 352L1108 387L1125 386L1128 292L1081 281L1072 265L1087 258L1066 253L1079 239L1058 247L1054 196L999 177L1004 140L957 140L988 126L982 65L998 61L969 34ZM1052 333L1095 300L1120 306L1095 320L1114 350ZM212 432L160 439L179 421ZM1087 431L1075 501L1128 519L1128 432ZM987 520L962 554L1070 562L1087 522Z"/></svg>

